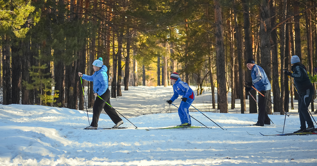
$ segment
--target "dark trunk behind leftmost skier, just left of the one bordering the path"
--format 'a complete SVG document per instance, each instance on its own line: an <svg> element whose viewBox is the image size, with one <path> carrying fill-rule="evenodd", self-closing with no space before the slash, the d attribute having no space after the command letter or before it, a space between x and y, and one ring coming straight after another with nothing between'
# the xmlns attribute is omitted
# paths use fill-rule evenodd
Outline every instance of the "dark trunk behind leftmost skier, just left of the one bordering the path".
<svg viewBox="0 0 317 166"><path fill-rule="evenodd" d="M118 81L117 81L117 96L122 96L121 93L121 80L122 80L122 44L123 32L121 31L118 38Z"/></svg>

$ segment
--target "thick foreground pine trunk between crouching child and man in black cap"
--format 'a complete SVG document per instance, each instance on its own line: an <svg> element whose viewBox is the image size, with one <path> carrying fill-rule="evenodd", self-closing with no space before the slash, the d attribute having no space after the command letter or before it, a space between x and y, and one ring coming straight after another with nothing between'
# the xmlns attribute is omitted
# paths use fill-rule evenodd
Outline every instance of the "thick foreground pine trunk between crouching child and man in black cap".
<svg viewBox="0 0 317 166"><path fill-rule="evenodd" d="M214 0L215 4L215 36L216 36L216 55L217 55L217 83L219 92L219 109L220 113L228 113L228 94L226 82L226 59L224 54L223 43L223 26L222 26L222 10L218 0Z"/></svg>

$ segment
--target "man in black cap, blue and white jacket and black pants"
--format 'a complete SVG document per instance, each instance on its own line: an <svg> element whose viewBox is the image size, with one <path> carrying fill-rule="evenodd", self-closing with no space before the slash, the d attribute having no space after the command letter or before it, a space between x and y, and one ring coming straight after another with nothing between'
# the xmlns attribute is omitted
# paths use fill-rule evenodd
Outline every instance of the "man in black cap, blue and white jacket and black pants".
<svg viewBox="0 0 317 166"><path fill-rule="evenodd" d="M268 77L262 67L255 64L255 61L250 58L247 61L247 67L251 70L252 82L247 82L249 87L245 87L245 91L253 90L251 86L260 91L265 97L259 94L258 96L258 107L259 115L258 121L253 126L264 126L264 124L271 124L270 118L268 117L268 109L266 105L268 100L266 98L271 97L271 83L268 81Z"/></svg>

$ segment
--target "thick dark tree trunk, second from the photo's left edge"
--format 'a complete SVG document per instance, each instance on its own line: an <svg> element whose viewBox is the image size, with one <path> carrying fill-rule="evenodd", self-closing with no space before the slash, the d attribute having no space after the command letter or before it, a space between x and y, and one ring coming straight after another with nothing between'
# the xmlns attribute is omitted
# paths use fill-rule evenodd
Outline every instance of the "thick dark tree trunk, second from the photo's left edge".
<svg viewBox="0 0 317 166"><path fill-rule="evenodd" d="M16 40L14 39L15 43ZM21 51L21 42L18 45L11 45L11 55L12 55L12 104L20 104L20 93L21 93L21 75L22 75L22 63L19 51Z"/></svg>

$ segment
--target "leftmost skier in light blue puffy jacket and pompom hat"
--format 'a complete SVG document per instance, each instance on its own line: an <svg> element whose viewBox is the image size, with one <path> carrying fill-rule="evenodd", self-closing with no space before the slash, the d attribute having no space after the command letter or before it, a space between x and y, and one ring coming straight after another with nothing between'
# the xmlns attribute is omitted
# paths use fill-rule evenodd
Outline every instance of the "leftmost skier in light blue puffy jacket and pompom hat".
<svg viewBox="0 0 317 166"><path fill-rule="evenodd" d="M98 120L102 109L105 110L105 112L111 118L113 123L116 124L113 127L119 127L121 124L123 124L123 121L120 118L120 116L118 116L117 112L108 105L110 104L110 90L108 89L107 66L103 65L102 58L100 57L99 59L94 61L93 68L95 72L92 76L82 74L81 72L78 73L78 75L82 79L87 81L93 81L94 96L96 97L93 106L93 120L90 126L86 127L86 129L97 129ZM102 99L107 101L108 104L106 104L97 96L100 96Z"/></svg>

